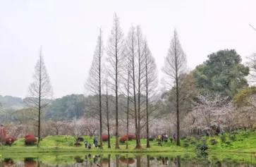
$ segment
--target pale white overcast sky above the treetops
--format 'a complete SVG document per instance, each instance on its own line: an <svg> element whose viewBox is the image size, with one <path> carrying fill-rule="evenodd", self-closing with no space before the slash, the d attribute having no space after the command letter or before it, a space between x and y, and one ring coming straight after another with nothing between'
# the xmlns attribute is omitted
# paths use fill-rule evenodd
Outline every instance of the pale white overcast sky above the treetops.
<svg viewBox="0 0 256 167"><path fill-rule="evenodd" d="M102 26L104 44L114 12L125 35L141 25L159 73L176 27L195 68L219 49L243 58L256 52L256 1L0 0L0 94L25 97L42 46L54 98L83 94Z"/></svg>

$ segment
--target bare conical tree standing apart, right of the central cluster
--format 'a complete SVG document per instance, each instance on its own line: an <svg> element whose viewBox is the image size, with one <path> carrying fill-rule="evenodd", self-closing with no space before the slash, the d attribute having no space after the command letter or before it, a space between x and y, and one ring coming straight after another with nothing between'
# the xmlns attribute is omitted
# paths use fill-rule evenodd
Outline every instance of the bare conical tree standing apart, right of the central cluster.
<svg viewBox="0 0 256 167"><path fill-rule="evenodd" d="M162 68L164 76L163 83L166 87L174 87L176 94L176 116L177 116L177 146L181 146L180 141L180 109L181 102L183 100L181 96L181 83L183 75L186 72L186 56L181 47L181 43L178 39L178 34L174 30L173 39L171 39L168 54L164 61L164 67Z"/></svg>

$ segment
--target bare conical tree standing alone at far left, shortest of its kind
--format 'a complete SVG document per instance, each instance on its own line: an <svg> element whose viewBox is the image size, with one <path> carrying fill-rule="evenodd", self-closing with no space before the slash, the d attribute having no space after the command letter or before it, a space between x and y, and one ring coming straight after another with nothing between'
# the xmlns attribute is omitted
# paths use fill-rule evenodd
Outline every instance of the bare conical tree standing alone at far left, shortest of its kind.
<svg viewBox="0 0 256 167"><path fill-rule="evenodd" d="M25 98L25 103L33 113L37 116L37 135L38 142L37 147L41 141L41 120L42 112L51 102L53 95L52 87L47 73L47 68L44 65L44 58L42 56L42 49L39 51L39 59L35 66L35 73L33 74L34 81L28 88L28 97Z"/></svg>

